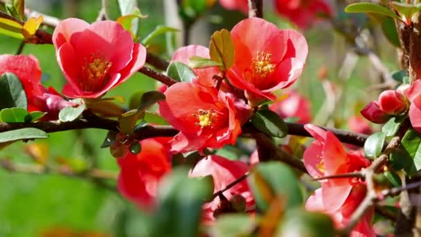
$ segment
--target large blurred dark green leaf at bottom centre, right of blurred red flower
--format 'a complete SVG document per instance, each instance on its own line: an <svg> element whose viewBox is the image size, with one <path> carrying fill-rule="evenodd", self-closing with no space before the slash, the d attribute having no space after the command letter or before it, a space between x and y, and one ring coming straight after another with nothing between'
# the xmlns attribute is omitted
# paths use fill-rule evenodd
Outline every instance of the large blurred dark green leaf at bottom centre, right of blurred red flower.
<svg viewBox="0 0 421 237"><path fill-rule="evenodd" d="M193 179L188 169L174 168L159 184L151 236L199 236L202 205L213 188L212 177Z"/></svg>

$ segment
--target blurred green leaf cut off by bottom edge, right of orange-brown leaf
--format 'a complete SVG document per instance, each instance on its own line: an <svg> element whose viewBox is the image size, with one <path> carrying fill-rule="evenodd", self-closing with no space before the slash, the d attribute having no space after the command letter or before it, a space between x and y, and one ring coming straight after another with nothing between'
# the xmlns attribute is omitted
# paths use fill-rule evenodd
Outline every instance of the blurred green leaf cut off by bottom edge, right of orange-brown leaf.
<svg viewBox="0 0 421 237"><path fill-rule="evenodd" d="M276 236L333 237L336 236L330 216L303 209L288 211Z"/></svg>

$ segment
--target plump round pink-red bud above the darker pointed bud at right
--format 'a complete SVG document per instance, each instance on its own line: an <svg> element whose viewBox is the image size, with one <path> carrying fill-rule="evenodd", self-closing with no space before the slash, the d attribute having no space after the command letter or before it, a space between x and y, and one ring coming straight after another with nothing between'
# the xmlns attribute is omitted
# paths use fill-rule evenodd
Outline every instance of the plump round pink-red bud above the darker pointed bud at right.
<svg viewBox="0 0 421 237"><path fill-rule="evenodd" d="M398 115L408 109L406 98L397 91L383 91L379 96L379 107L386 114Z"/></svg>

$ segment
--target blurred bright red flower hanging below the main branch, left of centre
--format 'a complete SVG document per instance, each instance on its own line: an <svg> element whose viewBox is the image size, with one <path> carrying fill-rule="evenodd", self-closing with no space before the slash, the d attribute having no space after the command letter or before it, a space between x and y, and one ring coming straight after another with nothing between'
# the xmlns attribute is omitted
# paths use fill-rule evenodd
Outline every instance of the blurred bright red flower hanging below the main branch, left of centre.
<svg viewBox="0 0 421 237"><path fill-rule="evenodd" d="M159 180L171 170L171 155L165 146L167 141L142 140L140 153L133 155L127 152L117 159L120 166L118 191L140 207L153 204Z"/></svg>

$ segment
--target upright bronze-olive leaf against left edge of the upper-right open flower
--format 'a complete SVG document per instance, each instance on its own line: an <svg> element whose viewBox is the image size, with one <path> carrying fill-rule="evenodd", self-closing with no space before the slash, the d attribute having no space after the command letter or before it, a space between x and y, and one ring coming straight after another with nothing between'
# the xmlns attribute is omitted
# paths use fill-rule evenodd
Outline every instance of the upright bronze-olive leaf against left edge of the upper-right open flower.
<svg viewBox="0 0 421 237"><path fill-rule="evenodd" d="M211 60L220 62L224 69L233 66L235 60L234 42L228 30L222 29L213 33L209 44L209 55L211 55Z"/></svg>

